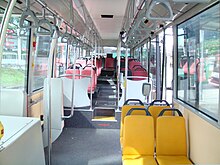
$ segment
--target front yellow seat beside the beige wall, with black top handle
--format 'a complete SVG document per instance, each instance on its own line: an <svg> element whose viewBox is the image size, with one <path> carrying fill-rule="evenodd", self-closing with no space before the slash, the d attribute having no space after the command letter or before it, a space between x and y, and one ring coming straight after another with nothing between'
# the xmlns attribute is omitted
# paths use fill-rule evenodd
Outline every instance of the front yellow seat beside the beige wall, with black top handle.
<svg viewBox="0 0 220 165"><path fill-rule="evenodd" d="M159 116L156 128L156 154L159 165L192 164L187 158L185 119L177 109L179 116Z"/></svg>

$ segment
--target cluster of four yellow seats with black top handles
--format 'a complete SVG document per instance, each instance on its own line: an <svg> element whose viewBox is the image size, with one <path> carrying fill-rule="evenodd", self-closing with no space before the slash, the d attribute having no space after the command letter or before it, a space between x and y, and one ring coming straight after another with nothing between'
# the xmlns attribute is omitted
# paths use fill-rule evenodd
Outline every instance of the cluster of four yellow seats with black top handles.
<svg viewBox="0 0 220 165"><path fill-rule="evenodd" d="M127 100L120 135L124 165L192 164L187 158L185 119L164 100L153 101L148 109L140 100Z"/></svg>

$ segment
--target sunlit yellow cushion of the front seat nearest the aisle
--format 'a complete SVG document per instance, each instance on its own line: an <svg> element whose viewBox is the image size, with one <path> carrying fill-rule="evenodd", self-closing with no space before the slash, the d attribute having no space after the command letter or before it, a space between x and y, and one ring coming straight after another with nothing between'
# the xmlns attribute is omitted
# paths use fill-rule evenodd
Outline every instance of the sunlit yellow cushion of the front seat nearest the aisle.
<svg viewBox="0 0 220 165"><path fill-rule="evenodd" d="M124 155L123 165L157 165L153 156Z"/></svg>

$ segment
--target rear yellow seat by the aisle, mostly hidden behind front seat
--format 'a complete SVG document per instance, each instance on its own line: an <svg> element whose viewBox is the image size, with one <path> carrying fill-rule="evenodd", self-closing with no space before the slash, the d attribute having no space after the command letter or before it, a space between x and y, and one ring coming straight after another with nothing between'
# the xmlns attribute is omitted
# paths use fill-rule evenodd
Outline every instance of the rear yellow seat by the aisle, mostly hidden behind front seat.
<svg viewBox="0 0 220 165"><path fill-rule="evenodd" d="M124 117L126 116L126 114L128 113L128 111L131 109L131 108L145 108L144 107L144 104L140 101L139 101L139 105L129 105L129 101L134 101L134 100L138 100L138 99L128 99L125 104L122 106L122 109L121 109L121 124L120 124L120 143L122 145L122 140L123 140L123 125L124 125ZM141 105L140 105L141 104ZM135 115L144 115L145 112L144 111L134 111Z"/></svg>

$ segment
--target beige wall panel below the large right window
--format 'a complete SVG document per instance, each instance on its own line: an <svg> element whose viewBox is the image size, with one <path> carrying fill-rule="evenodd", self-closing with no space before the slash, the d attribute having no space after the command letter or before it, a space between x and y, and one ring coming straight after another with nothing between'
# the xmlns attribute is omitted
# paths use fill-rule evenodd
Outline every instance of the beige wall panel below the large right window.
<svg viewBox="0 0 220 165"><path fill-rule="evenodd" d="M189 157L195 164L220 164L220 129L175 103L186 119Z"/></svg>

